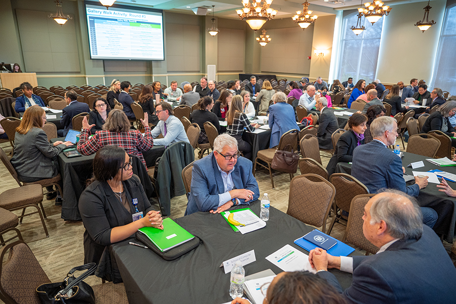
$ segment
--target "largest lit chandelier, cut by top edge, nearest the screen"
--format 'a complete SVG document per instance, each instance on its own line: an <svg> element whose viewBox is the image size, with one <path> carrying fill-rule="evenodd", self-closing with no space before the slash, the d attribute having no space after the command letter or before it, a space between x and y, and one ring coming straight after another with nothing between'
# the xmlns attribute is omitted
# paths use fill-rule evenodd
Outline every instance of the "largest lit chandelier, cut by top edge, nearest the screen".
<svg viewBox="0 0 456 304"><path fill-rule="evenodd" d="M263 24L271 19L274 19L277 11L273 10L269 6L273 0L242 0L244 8L242 10L236 10L239 15L239 19L245 20L247 24L255 32L263 26Z"/></svg>

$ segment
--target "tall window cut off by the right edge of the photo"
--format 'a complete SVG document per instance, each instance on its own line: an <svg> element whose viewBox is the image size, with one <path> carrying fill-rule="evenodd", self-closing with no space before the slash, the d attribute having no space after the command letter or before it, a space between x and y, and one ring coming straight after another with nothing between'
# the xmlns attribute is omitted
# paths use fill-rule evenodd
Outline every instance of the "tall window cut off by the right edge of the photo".
<svg viewBox="0 0 456 304"><path fill-rule="evenodd" d="M456 93L456 70L454 50L456 49L456 5L447 7L440 32L439 47L435 56L433 87Z"/></svg>

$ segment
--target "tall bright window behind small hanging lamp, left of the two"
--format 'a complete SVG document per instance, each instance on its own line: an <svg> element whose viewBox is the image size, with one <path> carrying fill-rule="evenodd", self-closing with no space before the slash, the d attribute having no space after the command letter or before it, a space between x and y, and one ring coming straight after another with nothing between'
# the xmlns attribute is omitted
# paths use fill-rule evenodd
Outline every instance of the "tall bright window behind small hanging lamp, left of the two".
<svg viewBox="0 0 456 304"><path fill-rule="evenodd" d="M356 36L350 27L356 26L358 12L344 17L338 74L340 81L352 77L355 83L358 79L365 79L369 83L375 79L384 20L382 17L372 25L365 17L361 17L366 29Z"/></svg>

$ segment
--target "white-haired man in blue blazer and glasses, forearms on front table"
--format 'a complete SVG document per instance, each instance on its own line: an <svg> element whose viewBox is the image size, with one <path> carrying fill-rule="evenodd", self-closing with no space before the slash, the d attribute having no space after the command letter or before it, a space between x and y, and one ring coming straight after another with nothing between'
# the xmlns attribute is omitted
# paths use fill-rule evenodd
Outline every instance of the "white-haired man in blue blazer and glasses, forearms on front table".
<svg viewBox="0 0 456 304"><path fill-rule="evenodd" d="M193 164L185 215L220 213L234 205L250 205L258 197L252 162L238 154L238 142L224 133L215 139L214 151Z"/></svg>

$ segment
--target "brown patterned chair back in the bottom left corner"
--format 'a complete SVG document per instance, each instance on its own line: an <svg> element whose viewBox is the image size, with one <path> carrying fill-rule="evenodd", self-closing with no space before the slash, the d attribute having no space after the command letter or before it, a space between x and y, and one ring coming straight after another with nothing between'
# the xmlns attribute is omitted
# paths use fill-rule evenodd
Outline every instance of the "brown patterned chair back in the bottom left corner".
<svg viewBox="0 0 456 304"><path fill-rule="evenodd" d="M6 260L0 263L0 298L7 304L41 304L36 287L51 280L27 244L20 240L6 245L0 259Z"/></svg>

